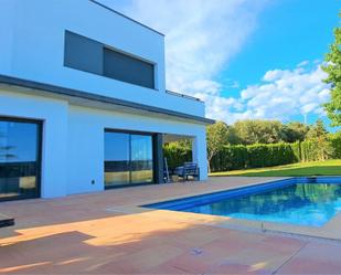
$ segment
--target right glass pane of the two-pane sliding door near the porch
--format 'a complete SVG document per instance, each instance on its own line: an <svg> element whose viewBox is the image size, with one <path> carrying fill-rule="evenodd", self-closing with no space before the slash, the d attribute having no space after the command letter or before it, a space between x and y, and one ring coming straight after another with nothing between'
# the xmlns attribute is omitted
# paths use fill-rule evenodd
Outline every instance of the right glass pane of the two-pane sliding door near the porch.
<svg viewBox="0 0 341 275"><path fill-rule="evenodd" d="M152 181L152 137L131 135L131 182Z"/></svg>

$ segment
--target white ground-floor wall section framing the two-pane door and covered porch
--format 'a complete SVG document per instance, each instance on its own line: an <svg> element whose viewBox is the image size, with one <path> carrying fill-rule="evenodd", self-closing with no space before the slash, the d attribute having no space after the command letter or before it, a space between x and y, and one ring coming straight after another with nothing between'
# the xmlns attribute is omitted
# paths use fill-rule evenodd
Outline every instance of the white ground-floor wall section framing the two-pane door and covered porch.
<svg viewBox="0 0 341 275"><path fill-rule="evenodd" d="M104 189L105 128L194 137L196 141L193 160L199 163L201 180L207 179L205 126L71 105L68 108L67 193ZM93 180L95 184L92 184Z"/></svg>

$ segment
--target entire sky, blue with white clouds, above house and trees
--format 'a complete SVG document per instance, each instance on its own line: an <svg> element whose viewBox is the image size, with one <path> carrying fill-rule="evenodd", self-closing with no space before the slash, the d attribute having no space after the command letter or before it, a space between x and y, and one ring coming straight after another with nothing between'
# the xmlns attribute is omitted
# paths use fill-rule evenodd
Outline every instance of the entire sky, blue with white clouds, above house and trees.
<svg viewBox="0 0 341 275"><path fill-rule="evenodd" d="M166 34L167 87L206 102L206 116L318 117L337 0L102 0Z"/></svg>

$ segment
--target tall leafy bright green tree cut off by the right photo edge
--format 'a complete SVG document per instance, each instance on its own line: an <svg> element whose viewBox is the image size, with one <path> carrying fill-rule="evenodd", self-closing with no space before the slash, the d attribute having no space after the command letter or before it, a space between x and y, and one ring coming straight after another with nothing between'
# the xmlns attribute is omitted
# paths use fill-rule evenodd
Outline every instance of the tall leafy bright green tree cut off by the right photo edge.
<svg viewBox="0 0 341 275"><path fill-rule="evenodd" d="M340 13L341 15L341 13ZM326 55L327 65L322 70L328 74L324 80L331 85L330 102L324 104L332 126L341 126L341 28L334 30L335 41Z"/></svg>

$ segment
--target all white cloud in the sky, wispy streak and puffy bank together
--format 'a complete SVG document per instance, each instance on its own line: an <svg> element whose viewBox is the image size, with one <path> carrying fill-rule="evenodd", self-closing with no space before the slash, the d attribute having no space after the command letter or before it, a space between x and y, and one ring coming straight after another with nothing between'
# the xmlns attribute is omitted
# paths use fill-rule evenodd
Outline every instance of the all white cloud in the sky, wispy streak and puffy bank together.
<svg viewBox="0 0 341 275"><path fill-rule="evenodd" d="M167 87L204 99L207 117L231 124L323 115L320 105L329 91L318 60L302 61L292 70L270 70L238 97L222 96L224 89L239 85L233 80L217 82L216 76L257 28L269 0L102 1L166 34Z"/></svg>

